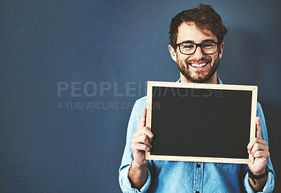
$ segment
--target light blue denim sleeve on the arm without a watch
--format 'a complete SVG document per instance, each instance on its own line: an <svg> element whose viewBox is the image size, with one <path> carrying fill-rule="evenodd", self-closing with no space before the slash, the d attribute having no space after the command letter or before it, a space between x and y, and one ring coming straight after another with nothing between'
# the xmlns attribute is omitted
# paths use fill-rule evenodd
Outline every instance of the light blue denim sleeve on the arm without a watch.
<svg viewBox="0 0 281 193"><path fill-rule="evenodd" d="M143 112L143 108L146 105L144 102L145 98L141 98L137 100L135 105L133 105L133 110L131 112L131 117L129 119L129 124L127 128L126 135L126 145L124 149L124 154L122 157L121 166L119 168L119 185L122 189L122 192L147 192L150 187L151 182L151 174L148 170L148 179L145 182L145 185L138 190L136 188L131 187L131 182L129 180L129 168L131 166L131 162L133 161L133 155L131 152L131 138L134 132L138 129L138 122L141 119L141 113ZM145 100L146 101L146 100Z"/></svg>

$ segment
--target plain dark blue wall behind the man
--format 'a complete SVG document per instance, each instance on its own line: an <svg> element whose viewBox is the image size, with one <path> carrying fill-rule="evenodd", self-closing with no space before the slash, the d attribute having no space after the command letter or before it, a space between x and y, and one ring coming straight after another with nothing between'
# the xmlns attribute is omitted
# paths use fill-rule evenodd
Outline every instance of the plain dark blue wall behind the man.
<svg viewBox="0 0 281 193"><path fill-rule="evenodd" d="M280 182L280 1L2 0L0 192L120 192L130 105L146 81L178 79L169 23L199 3L214 6L229 27L218 76L259 86ZM89 81L97 84L93 97L83 91ZM59 96L58 82L81 90Z"/></svg>

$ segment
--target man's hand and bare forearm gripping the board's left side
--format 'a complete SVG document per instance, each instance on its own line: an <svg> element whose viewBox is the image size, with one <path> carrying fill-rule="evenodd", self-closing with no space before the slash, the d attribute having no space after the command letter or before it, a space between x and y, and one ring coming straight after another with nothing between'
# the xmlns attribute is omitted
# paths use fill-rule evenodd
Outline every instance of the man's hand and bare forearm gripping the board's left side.
<svg viewBox="0 0 281 193"><path fill-rule="evenodd" d="M132 187L141 189L148 178L148 160L145 160L145 152L149 152L152 148L153 134L150 128L146 127L146 108L141 114L138 130L133 133L131 140L131 150L133 161L129 170L129 179Z"/></svg>

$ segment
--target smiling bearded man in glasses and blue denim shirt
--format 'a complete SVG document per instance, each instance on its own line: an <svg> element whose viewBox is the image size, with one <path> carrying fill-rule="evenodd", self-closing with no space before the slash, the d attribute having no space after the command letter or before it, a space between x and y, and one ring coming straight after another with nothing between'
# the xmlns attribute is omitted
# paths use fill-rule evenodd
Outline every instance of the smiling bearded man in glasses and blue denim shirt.
<svg viewBox="0 0 281 193"><path fill-rule="evenodd" d="M222 84L216 70L227 29L211 6L199 5L171 20L169 52L183 83ZM129 120L119 169L123 192L272 192L275 173L268 152L268 134L257 104L256 138L245 147L254 164L148 161L153 133L145 126L146 97L136 101ZM249 169L249 170L248 170ZM250 178L249 178L250 177Z"/></svg>

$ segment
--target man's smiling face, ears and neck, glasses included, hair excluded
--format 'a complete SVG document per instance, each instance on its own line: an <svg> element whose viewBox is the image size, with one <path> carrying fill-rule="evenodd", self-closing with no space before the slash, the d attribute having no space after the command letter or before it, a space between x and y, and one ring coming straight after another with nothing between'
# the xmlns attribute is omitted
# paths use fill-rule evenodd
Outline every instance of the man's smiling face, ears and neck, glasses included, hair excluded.
<svg viewBox="0 0 281 193"><path fill-rule="evenodd" d="M197 28L195 22L183 22L178 27L178 43L169 45L171 58L178 64L182 82L216 84L223 43L219 44L209 30Z"/></svg>

